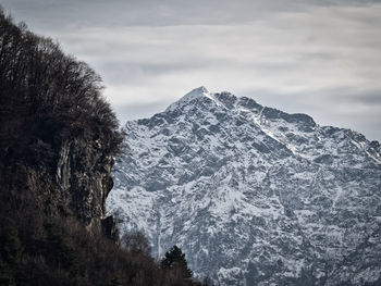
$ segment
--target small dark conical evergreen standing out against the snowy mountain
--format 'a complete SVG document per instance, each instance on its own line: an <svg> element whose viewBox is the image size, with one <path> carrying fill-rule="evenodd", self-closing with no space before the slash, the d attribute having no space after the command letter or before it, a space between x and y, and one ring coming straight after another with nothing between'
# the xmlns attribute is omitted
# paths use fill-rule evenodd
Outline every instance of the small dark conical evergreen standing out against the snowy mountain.
<svg viewBox="0 0 381 286"><path fill-rule="evenodd" d="M165 257L161 260L161 268L179 272L183 278L190 278L193 275L193 272L188 269L185 254L177 246L173 246L165 252Z"/></svg>

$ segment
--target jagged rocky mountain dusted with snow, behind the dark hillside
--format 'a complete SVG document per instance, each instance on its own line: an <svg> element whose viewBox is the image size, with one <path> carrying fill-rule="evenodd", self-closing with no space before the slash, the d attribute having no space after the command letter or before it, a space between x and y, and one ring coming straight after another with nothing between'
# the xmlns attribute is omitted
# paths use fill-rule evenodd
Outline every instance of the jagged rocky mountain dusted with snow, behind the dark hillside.
<svg viewBox="0 0 381 286"><path fill-rule="evenodd" d="M220 285L380 285L379 142L205 87L126 132L108 210L156 257Z"/></svg>

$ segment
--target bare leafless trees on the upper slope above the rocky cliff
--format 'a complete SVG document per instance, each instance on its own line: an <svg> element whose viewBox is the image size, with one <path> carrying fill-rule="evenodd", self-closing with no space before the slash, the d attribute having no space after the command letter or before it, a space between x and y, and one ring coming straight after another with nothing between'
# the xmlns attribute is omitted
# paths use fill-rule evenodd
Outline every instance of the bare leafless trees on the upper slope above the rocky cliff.
<svg viewBox="0 0 381 286"><path fill-rule="evenodd" d="M107 151L115 153L122 136L101 91L100 76L85 62L64 54L57 42L33 34L25 24L15 25L0 9L2 138L17 137L22 125L61 117L67 126L97 126L108 139Z"/></svg>

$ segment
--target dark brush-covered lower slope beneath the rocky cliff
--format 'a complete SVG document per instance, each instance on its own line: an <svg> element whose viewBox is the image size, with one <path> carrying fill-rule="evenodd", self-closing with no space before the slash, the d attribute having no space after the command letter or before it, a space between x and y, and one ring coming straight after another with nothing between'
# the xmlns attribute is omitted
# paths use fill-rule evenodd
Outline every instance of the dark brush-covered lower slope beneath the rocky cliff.
<svg viewBox="0 0 381 286"><path fill-rule="evenodd" d="M190 279L171 251L174 262L164 266L144 252L91 235L75 220L41 216L20 222L1 215L0 220L0 285L211 285Z"/></svg>

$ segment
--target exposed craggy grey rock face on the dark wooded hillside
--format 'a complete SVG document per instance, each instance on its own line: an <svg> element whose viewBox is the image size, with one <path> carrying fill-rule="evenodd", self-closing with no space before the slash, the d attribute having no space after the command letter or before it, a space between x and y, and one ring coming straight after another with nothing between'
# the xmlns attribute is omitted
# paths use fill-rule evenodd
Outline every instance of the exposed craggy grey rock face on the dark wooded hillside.
<svg viewBox="0 0 381 286"><path fill-rule="evenodd" d="M97 141L64 141L56 161L58 202L88 227L100 228L106 219L106 198L113 182L113 159L106 156Z"/></svg>

